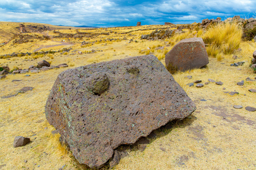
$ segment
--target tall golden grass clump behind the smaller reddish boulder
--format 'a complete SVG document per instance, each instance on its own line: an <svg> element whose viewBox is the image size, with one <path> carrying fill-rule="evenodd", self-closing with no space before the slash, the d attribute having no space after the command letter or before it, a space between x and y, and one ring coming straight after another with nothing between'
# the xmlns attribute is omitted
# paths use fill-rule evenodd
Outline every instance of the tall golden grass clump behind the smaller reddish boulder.
<svg viewBox="0 0 256 170"><path fill-rule="evenodd" d="M216 57L216 53L232 54L242 41L242 27L238 23L221 23L213 25L202 38L207 47L209 56Z"/></svg>

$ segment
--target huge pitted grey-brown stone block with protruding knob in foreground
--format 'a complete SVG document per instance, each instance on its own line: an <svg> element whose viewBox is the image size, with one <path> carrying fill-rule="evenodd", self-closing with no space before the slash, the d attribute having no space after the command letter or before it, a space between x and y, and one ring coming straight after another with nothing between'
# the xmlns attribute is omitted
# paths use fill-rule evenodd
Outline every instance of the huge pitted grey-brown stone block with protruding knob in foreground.
<svg viewBox="0 0 256 170"><path fill-rule="evenodd" d="M63 71L48 97L46 118L80 163L100 168L118 146L195 109L163 64L148 55Z"/></svg>

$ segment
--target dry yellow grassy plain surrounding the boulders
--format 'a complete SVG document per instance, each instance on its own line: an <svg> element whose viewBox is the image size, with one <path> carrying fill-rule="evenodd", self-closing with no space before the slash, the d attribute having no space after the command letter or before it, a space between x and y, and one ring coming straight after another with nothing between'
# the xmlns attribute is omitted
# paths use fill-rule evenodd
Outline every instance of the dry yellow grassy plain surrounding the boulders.
<svg viewBox="0 0 256 170"><path fill-rule="evenodd" d="M222 25L225 29L229 25ZM231 25L232 26L232 25ZM94 62L110 61L133 56L141 56L152 53L164 63L164 54L179 42L188 37L206 37L212 32L198 32L184 30L181 35L174 35L166 40L141 40L141 35L146 35L156 28L164 29L166 25L143 25L142 27L122 28L97 28L79 29L80 32L96 33L98 36L75 38L52 38L47 41L28 42L18 45L9 44L0 47L1 54L13 52L33 52L38 45L56 45L57 42L65 40L73 45L54 46L42 50L59 50L71 47L68 53L55 53L40 55L0 58L0 66L9 65L10 69L19 67L26 69L36 62L46 59L51 65L68 63L69 67L42 71L31 76L24 74L8 75L6 79L0 80L0 96L15 94L20 88L31 86L35 89L25 94L19 94L8 99L0 99L0 169L87 169L73 158L70 151L59 142L59 134L52 134L55 130L49 125L45 114L44 105L57 75L62 71L74 67L88 65ZM174 74L175 80L187 92L197 106L197 110L183 121L171 122L171 129L159 129L155 131L155 138L150 139L146 150L129 151L129 155L121 159L121 162L113 169L255 169L256 168L256 133L255 112L248 112L245 107L255 105L255 94L249 92L250 88L256 88L256 83L245 81L244 86L237 86L237 82L247 77L254 79L256 76L249 68L252 53L256 49L253 41L241 41L240 29L237 35L229 39L237 38L234 49L241 48L240 52L233 51L225 53L227 45L231 40L221 44L212 42L208 46L209 64L205 69L195 69L185 73ZM76 29L56 29L61 33L76 33ZM45 32L46 33L46 32ZM53 31L47 32L54 36ZM104 35L100 33L109 33ZM42 35L43 33L37 33ZM226 34L227 35L227 34ZM229 35L229 34L228 34ZM215 36L217 37L216 32ZM210 37L210 36L209 36ZM110 39L113 39L110 41ZM138 42L130 42L129 40ZM221 39L221 37L220 37ZM97 40L97 42L95 42ZM101 42L99 42L102 40ZM210 39L213 40L213 39ZM81 46L82 41L90 42ZM164 46L163 50L156 49ZM229 45L230 46L230 45ZM149 49L148 49L149 48ZM95 53L90 53L96 50ZM102 50L102 51L101 51ZM217 50L216 55L211 55L212 50ZM83 54L79 54L81 51ZM218 57L218 54L221 55ZM236 54L238 59L233 59ZM245 61L243 66L232 67L231 63ZM239 70L238 70L239 68ZM192 79L184 76L192 75ZM205 84L203 88L188 87L186 84L194 80L208 79L224 82L222 86L215 83ZM12 82L14 79L22 80ZM223 88L226 88L223 90ZM238 95L230 96L224 91L237 91ZM205 99L207 101L201 101ZM242 109L234 109L233 105L242 105ZM31 142L23 147L14 148L14 137L22 135L29 137ZM27 160L27 163L24 162ZM110 169L105 166L104 169Z"/></svg>

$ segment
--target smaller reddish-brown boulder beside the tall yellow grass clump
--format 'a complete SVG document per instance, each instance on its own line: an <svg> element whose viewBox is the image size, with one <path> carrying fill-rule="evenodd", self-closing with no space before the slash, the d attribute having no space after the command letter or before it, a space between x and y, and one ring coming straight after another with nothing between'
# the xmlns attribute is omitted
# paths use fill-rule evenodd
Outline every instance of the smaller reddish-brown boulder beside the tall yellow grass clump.
<svg viewBox="0 0 256 170"><path fill-rule="evenodd" d="M208 63L207 50L201 38L181 40L166 54L166 66L171 64L181 71L199 69Z"/></svg>

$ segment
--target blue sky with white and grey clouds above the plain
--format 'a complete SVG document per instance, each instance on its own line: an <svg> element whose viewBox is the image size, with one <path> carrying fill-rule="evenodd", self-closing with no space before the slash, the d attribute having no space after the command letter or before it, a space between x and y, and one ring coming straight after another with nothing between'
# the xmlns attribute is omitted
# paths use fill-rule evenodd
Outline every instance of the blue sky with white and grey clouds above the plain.
<svg viewBox="0 0 256 170"><path fill-rule="evenodd" d="M256 17L255 0L0 0L0 21L93 27Z"/></svg>

